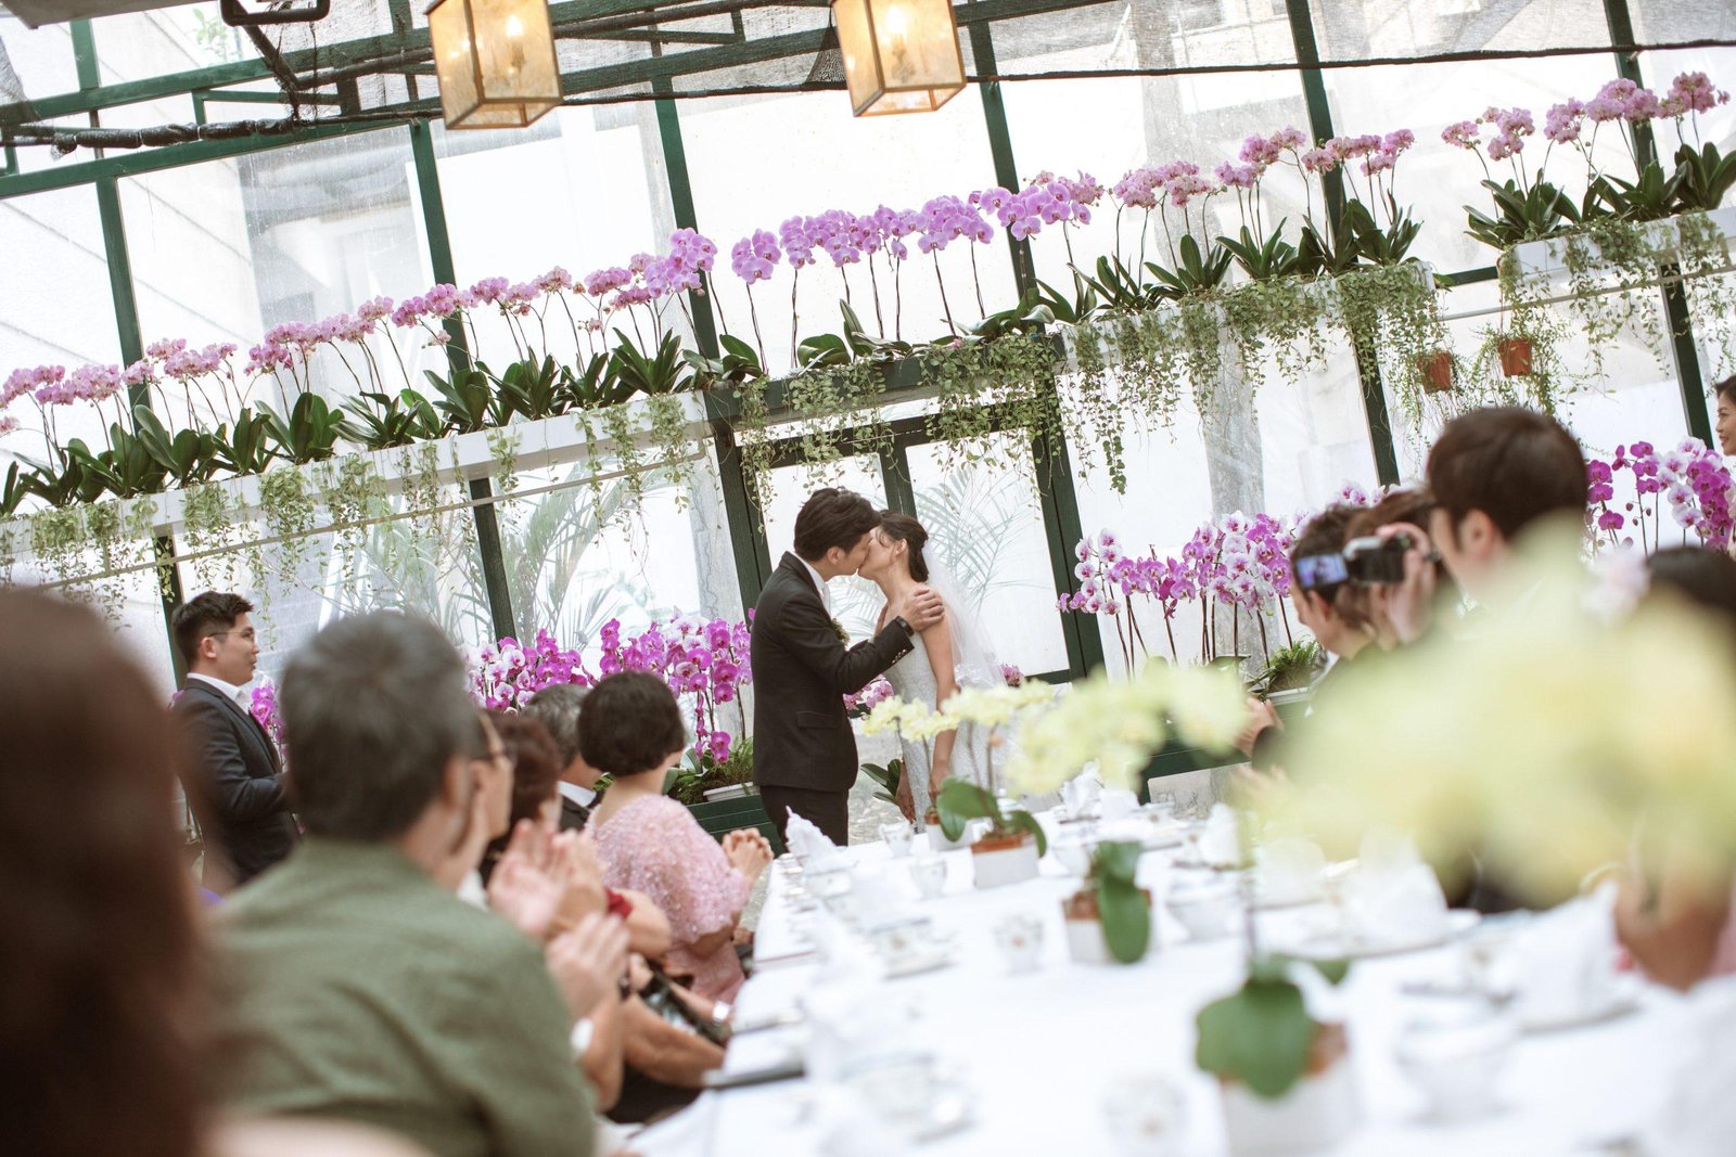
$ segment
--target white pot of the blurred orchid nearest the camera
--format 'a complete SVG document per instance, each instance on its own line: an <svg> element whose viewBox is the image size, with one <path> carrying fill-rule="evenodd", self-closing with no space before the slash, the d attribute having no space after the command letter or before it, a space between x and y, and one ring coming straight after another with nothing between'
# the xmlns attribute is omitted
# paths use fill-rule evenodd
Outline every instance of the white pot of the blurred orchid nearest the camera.
<svg viewBox="0 0 1736 1157"><path fill-rule="evenodd" d="M1330 1148L1361 1121L1344 1025L1316 1025L1302 1077L1276 1100L1224 1081L1224 1128L1236 1157Z"/></svg>

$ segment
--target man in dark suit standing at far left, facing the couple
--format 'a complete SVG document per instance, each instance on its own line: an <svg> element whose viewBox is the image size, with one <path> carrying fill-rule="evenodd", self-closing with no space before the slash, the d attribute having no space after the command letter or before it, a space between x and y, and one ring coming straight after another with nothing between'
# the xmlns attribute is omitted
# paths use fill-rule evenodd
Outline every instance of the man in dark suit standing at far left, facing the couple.
<svg viewBox="0 0 1736 1157"><path fill-rule="evenodd" d="M207 886L217 892L266 871L299 840L278 744L247 692L259 663L252 611L240 595L205 592L170 624L187 664L174 706L189 741L187 803L205 838Z"/></svg>

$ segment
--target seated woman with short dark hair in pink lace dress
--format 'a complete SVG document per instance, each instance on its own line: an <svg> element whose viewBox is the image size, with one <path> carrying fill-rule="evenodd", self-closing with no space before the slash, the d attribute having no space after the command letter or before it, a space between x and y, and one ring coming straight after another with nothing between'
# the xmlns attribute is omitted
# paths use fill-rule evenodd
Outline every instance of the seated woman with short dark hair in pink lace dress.
<svg viewBox="0 0 1736 1157"><path fill-rule="evenodd" d="M733 999L743 980L736 925L771 845L755 831L733 831L719 847L663 794L663 774L687 746L663 680L642 671L604 678L585 696L578 741L585 762L611 777L592 815L606 883L644 892L668 916L672 971L691 975L694 992Z"/></svg>

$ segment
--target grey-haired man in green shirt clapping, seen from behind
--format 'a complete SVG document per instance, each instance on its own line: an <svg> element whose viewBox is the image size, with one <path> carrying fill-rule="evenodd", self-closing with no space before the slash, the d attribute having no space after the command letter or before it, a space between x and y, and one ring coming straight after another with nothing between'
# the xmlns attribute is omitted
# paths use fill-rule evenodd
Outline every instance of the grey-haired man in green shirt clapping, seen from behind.
<svg viewBox="0 0 1736 1157"><path fill-rule="evenodd" d="M219 919L222 1025L247 1048L231 1108L437 1157L589 1155L568 1037L618 999L625 931L594 912L543 947L453 895L491 824L479 765L503 758L458 652L422 619L340 619L290 661L281 709L307 838Z"/></svg>

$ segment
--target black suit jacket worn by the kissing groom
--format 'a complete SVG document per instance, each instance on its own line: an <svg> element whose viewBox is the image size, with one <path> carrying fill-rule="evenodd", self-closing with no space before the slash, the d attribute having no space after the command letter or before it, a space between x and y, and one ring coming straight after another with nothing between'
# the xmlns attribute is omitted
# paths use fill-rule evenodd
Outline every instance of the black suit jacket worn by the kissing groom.
<svg viewBox="0 0 1736 1157"><path fill-rule="evenodd" d="M910 631L896 623L845 649L807 567L785 555L753 609L753 782L849 791L856 734L844 696L910 650Z"/></svg>

